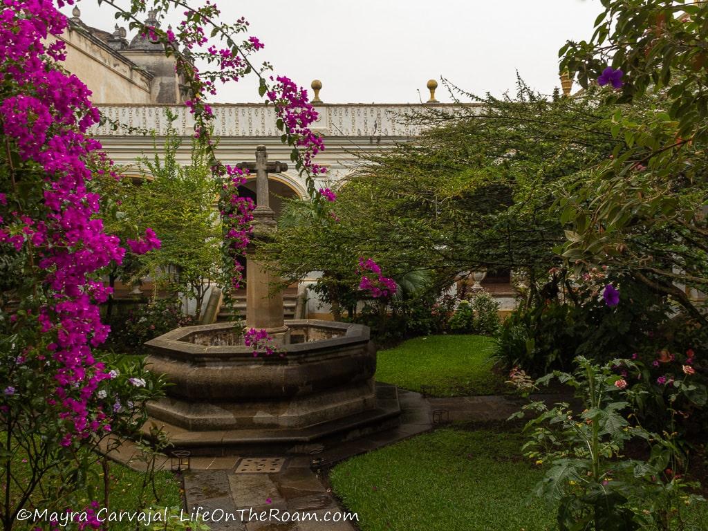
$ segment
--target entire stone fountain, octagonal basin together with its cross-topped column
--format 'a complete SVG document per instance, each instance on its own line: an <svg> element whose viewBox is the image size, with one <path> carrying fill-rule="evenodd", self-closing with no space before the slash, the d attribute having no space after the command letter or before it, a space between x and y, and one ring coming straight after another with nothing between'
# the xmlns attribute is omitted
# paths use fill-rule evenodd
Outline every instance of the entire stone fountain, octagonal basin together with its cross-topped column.
<svg viewBox="0 0 708 531"><path fill-rule="evenodd" d="M256 148L253 244L246 253L246 327L266 329L282 356L253 356L234 323L185 326L148 341L149 368L172 385L148 404L175 447L193 455L307 452L312 443L355 438L398 423L396 388L377 384L376 351L366 326L283 319L277 278L254 258L275 229L268 205L265 146Z"/></svg>

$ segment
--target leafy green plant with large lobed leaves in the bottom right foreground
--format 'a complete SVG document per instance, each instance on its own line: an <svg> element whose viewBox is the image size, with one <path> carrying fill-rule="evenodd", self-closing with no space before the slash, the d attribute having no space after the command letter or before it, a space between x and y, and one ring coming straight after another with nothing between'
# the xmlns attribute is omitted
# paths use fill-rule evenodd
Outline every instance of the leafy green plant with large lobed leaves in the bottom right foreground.
<svg viewBox="0 0 708 531"><path fill-rule="evenodd" d="M675 444L675 433L652 433L628 415L627 382L616 370L621 366L637 372L639 367L630 360L597 365L578 357L575 362L572 374L556 371L536 385L558 378L576 390L583 411L567 403L549 409L532 402L513 416L539 414L525 427L529 442L524 446L527 457L547 467L535 495L559 503L561 530L682 529L677 507L705 500L691 493L697 485L678 473L685 456ZM518 370L511 379L525 394L536 388ZM646 460L623 455L629 441L644 441Z"/></svg>

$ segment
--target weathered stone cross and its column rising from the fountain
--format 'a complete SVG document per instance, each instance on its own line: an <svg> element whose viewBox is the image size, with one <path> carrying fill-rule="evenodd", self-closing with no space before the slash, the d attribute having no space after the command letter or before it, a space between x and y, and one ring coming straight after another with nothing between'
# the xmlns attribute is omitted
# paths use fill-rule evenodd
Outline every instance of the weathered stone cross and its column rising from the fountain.
<svg viewBox="0 0 708 531"><path fill-rule="evenodd" d="M258 239L267 237L275 228L275 212L268 201L268 173L287 171L287 164L268 162L268 152L261 145L256 147L256 162L241 162L239 168L256 173L255 237L246 250L246 328L265 329L276 341L287 343L289 331L282 316L282 291L272 291L280 279L255 258Z"/></svg>

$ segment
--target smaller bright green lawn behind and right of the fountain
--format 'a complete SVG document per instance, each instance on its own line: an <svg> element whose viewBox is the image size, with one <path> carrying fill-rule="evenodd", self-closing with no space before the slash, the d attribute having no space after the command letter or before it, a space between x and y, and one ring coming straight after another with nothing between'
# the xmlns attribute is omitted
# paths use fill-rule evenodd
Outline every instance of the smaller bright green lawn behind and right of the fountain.
<svg viewBox="0 0 708 531"><path fill-rule="evenodd" d="M509 393L492 371L494 339L486 336L427 336L379 350L376 379L403 389L435 386L435 396Z"/></svg>

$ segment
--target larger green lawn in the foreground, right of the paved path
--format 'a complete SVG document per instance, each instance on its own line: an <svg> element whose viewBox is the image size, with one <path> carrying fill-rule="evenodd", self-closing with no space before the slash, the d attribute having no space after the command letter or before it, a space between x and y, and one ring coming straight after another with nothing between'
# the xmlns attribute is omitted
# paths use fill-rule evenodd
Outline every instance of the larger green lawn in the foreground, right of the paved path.
<svg viewBox="0 0 708 531"><path fill-rule="evenodd" d="M529 498L542 472L515 433L437 430L353 457L330 474L362 531L543 531L554 509Z"/></svg>

